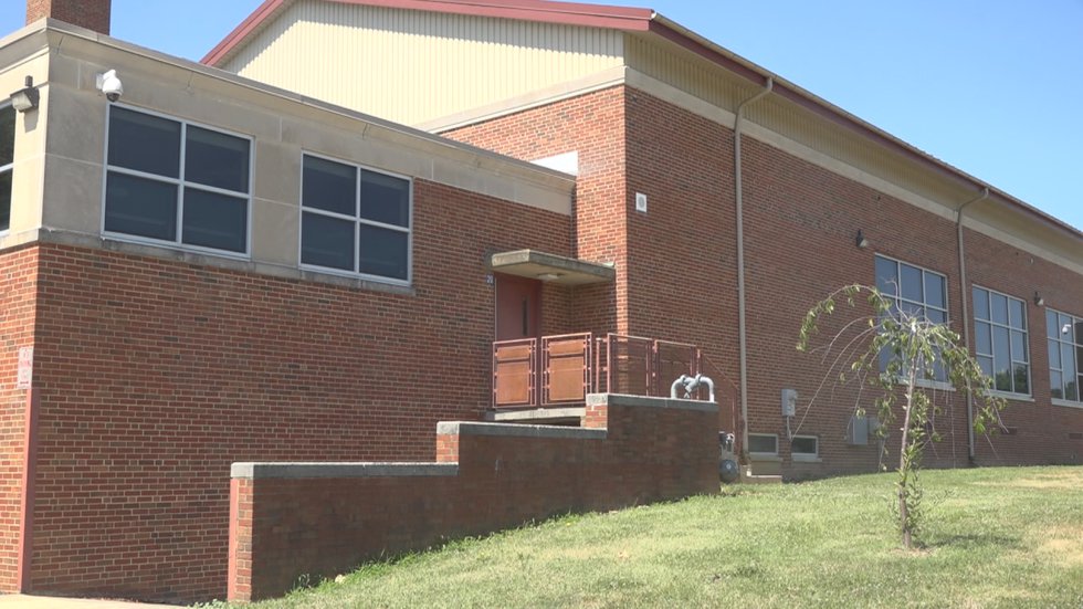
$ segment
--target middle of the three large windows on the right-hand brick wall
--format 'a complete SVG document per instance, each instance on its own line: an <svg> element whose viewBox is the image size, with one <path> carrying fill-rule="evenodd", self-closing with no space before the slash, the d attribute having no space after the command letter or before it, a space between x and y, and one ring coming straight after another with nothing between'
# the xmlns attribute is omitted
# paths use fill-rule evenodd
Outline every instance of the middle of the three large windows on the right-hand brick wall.
<svg viewBox="0 0 1083 609"><path fill-rule="evenodd" d="M1030 395L1027 303L1007 294L974 288L974 346L993 389Z"/></svg>

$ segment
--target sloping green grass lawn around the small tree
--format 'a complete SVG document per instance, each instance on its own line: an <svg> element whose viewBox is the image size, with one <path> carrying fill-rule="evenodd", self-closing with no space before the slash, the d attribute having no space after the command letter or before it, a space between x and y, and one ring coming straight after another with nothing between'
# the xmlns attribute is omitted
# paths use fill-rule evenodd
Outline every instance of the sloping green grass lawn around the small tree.
<svg viewBox="0 0 1083 609"><path fill-rule="evenodd" d="M1083 468L923 472L916 552L900 549L893 481L568 516L251 607L1083 607Z"/></svg>

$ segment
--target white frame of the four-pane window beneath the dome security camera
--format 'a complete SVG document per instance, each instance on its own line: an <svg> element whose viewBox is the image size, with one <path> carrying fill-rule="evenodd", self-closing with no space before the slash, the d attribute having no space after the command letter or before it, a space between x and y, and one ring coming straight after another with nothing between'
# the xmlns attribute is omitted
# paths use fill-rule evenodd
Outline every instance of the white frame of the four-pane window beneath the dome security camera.
<svg viewBox="0 0 1083 609"><path fill-rule="evenodd" d="M156 116L158 118L165 118L166 120L172 120L180 124L180 166L178 167L179 178L170 178L168 176L159 176L157 174L148 174L146 171L139 171L137 169L128 169L126 167L114 167L109 165L109 130L113 122L113 107L119 107L122 109L146 114L148 116ZM228 135L239 139L244 139L249 143L249 191L246 193L238 192L235 190L229 190L224 188L218 188L213 186L207 186L198 182L190 182L185 179L185 161L188 151L188 127L198 127L200 129L207 129L209 132L220 133L222 135ZM139 243L145 245L156 245L160 248L168 248L171 250L183 250L193 251L207 254L213 254L223 258L233 258L240 260L250 260L252 258L252 192L255 190L255 139L249 135L239 134L235 132L230 132L225 129L220 129L211 125L204 125L201 123L196 123L193 120L187 120L183 118L178 118L168 114L160 112L149 111L147 108L141 108L137 106L130 106L127 104L109 104L105 111L105 155L103 156L102 166L104 167L104 177L102 179L102 223L101 232L102 237L114 240L114 241L126 241L128 243ZM147 180L155 180L161 183L169 183L177 186L177 238L172 241L165 239L155 239L151 237L141 237L138 234L128 234L124 232L114 232L105 230L105 211L106 211L106 196L108 195L108 180L109 172L122 174L126 176L133 176L136 178L144 178ZM223 195L228 197L233 197L234 199L243 199L245 204L245 228L244 228L244 251L234 252L232 250L219 250L217 248L207 248L204 245L191 245L185 243L183 240L183 218L185 218L185 188L192 188L194 190L202 190L204 192L212 192L215 195Z"/></svg>

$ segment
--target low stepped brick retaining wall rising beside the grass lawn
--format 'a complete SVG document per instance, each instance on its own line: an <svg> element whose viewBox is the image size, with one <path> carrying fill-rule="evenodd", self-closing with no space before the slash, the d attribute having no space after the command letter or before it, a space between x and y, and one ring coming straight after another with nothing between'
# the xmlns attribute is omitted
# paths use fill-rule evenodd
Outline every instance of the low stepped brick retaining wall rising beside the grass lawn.
<svg viewBox="0 0 1083 609"><path fill-rule="evenodd" d="M334 576L366 559L568 511L717 491L713 407L610 400L587 407L604 439L567 428L558 433L575 437L523 426L445 430L438 445L445 465L458 462L453 476L234 479L230 598L278 595L301 574Z"/></svg>

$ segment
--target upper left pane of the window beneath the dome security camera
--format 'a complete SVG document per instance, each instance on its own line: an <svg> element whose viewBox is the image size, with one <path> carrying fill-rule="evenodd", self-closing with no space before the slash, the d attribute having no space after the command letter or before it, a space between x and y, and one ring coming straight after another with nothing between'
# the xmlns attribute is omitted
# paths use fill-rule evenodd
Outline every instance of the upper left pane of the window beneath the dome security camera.
<svg viewBox="0 0 1083 609"><path fill-rule="evenodd" d="M109 165L180 177L180 123L109 107Z"/></svg>

